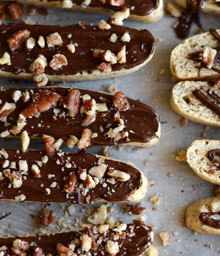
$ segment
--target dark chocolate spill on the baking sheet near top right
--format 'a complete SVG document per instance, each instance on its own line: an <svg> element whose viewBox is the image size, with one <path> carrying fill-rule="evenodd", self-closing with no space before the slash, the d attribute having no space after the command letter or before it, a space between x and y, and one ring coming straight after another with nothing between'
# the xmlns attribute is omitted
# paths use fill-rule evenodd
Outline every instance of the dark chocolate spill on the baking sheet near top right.
<svg viewBox="0 0 220 256"><path fill-rule="evenodd" d="M176 35L180 38L186 38L189 35L191 26L194 23L202 29L200 22L200 10L204 0L197 0L196 6L195 1L187 0L187 8L182 12L182 15L178 18L178 23L174 27Z"/></svg>

